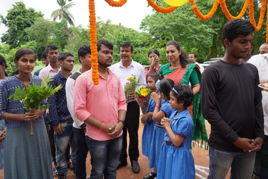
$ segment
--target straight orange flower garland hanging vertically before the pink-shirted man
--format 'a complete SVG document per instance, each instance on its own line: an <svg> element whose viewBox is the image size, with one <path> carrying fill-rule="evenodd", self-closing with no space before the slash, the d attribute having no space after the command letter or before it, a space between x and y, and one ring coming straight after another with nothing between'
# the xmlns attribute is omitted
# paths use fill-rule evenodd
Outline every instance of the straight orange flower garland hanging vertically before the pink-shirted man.
<svg viewBox="0 0 268 179"><path fill-rule="evenodd" d="M92 65L92 81L94 85L99 84L98 71L98 51L97 51L97 29L96 29L96 13L94 0L88 1L89 8L89 33L90 33L90 49L91 49L91 65Z"/></svg>

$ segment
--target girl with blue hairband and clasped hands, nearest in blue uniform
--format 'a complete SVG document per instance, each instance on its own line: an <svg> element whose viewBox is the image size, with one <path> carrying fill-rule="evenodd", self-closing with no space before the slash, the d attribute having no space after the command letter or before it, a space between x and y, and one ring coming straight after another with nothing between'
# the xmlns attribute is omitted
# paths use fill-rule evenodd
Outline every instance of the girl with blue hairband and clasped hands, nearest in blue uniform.
<svg viewBox="0 0 268 179"><path fill-rule="evenodd" d="M170 118L163 118L166 130L162 144L157 178L195 178L194 160L191 152L193 119L188 106L193 103L193 90L189 85L176 84L170 92L170 106L176 109Z"/></svg>

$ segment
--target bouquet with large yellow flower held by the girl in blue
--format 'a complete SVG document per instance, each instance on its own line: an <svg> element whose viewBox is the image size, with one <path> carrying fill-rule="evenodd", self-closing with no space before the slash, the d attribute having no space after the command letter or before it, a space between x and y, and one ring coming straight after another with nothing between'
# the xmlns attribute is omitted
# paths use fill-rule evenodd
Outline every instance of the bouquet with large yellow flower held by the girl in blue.
<svg viewBox="0 0 268 179"><path fill-rule="evenodd" d="M144 115L146 113L148 103L151 96L151 89L147 89L146 87L140 87L136 90L136 101L140 105L140 109L142 111L142 114Z"/></svg>

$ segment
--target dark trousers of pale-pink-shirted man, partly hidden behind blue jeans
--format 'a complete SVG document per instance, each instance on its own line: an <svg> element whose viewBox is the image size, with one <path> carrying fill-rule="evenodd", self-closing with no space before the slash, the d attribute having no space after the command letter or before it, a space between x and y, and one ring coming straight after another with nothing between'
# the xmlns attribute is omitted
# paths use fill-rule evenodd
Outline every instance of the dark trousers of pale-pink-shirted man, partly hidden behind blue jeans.
<svg viewBox="0 0 268 179"><path fill-rule="evenodd" d="M54 143L54 128L51 125L48 125L48 139L49 139L49 145L50 145L50 152L52 156L52 161L54 162L54 165L56 166L56 147ZM70 145L68 144L66 150L65 150L65 157L66 157L66 162L70 161L71 155L70 155Z"/></svg>

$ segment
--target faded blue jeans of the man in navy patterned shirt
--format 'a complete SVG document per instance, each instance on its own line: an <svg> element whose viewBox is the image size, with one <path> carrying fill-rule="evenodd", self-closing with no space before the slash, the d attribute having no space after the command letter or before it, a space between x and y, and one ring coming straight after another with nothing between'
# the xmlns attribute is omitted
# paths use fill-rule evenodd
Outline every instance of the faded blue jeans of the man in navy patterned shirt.
<svg viewBox="0 0 268 179"><path fill-rule="evenodd" d="M72 152L71 152L71 160L73 165L75 165L75 143L73 137L73 122L60 122L63 128L63 134L59 135L56 132L54 133L54 142L56 146L56 172L64 172L67 173L67 163L65 158L65 150L67 145L70 144Z"/></svg>

